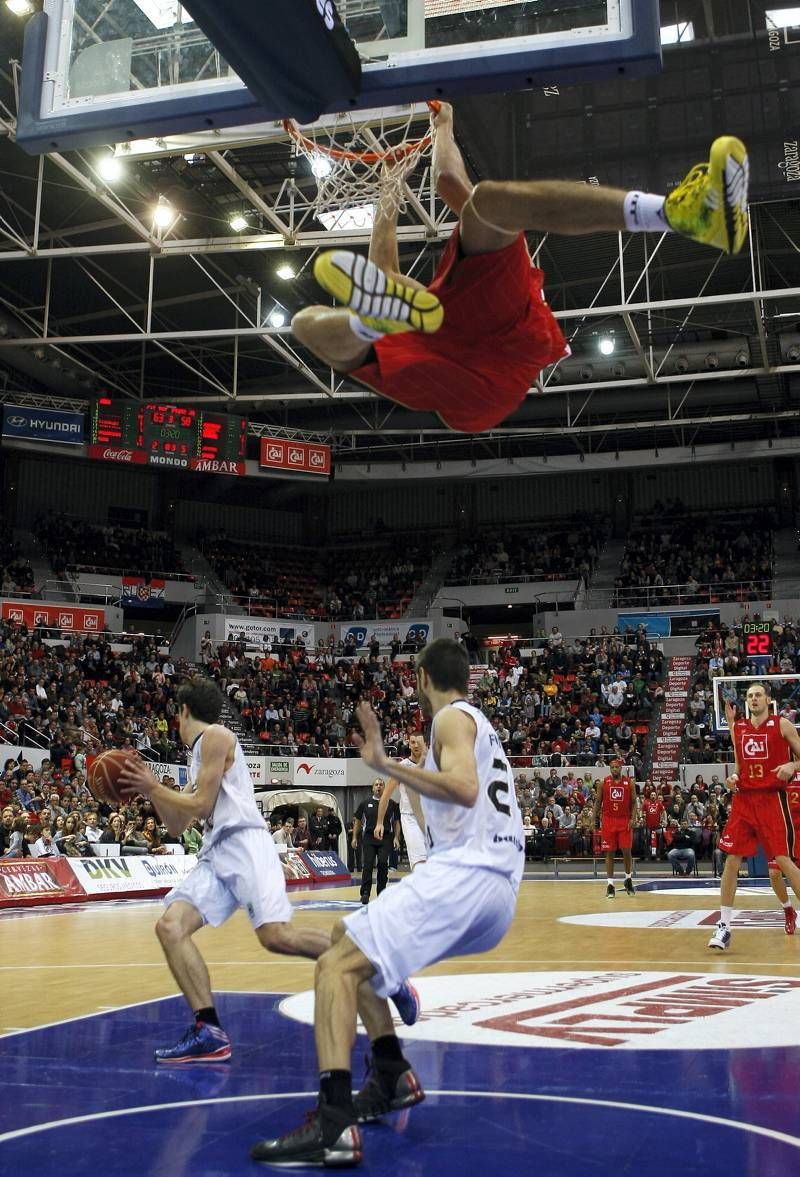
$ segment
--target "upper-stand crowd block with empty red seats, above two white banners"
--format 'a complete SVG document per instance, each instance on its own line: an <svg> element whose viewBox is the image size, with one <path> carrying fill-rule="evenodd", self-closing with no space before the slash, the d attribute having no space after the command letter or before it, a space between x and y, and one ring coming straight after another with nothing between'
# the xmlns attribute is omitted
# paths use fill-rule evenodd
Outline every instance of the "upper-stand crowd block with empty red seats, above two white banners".
<svg viewBox="0 0 800 1177"><path fill-rule="evenodd" d="M433 547L431 540L400 537L389 544L376 537L368 546L320 551L254 546L218 533L204 538L202 551L252 613L358 621L400 618L429 568Z"/></svg>

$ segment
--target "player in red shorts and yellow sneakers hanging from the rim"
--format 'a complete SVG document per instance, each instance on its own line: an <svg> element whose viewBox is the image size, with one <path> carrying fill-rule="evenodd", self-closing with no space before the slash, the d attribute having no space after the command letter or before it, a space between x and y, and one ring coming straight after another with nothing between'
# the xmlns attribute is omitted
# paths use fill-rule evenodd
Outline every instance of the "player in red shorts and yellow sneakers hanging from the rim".
<svg viewBox="0 0 800 1177"><path fill-rule="evenodd" d="M666 198L561 180L473 185L447 102L432 113L436 192L459 217L429 286L400 273L396 202L376 206L369 259L320 254L314 274L342 308L311 306L292 327L338 372L449 428L492 428L520 406L539 372L568 354L544 301L525 232L676 232L726 253L747 237L744 144L716 139ZM385 165L391 168L391 165Z"/></svg>

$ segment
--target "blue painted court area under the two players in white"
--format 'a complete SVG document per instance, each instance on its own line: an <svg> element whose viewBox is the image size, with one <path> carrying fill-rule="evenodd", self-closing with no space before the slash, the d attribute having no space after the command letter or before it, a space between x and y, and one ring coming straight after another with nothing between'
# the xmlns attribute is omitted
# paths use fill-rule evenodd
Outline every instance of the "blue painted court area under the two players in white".
<svg viewBox="0 0 800 1177"><path fill-rule="evenodd" d="M2 1170L35 1177L261 1171L247 1157L249 1145L296 1126L315 1098L311 1028L281 1016L280 999L219 995L234 1042L229 1065L151 1063L153 1046L186 1025L178 997L5 1037ZM365 1046L359 1038L356 1083ZM429 1095L365 1129L369 1173L800 1171L798 1049L578 1053L418 1042L408 1053Z"/></svg>

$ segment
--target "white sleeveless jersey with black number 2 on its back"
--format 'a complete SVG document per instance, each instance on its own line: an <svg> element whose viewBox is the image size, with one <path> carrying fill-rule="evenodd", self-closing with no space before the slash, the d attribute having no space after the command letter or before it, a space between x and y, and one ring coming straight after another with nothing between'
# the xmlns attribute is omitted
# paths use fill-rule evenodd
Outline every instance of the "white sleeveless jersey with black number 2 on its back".
<svg viewBox="0 0 800 1177"><path fill-rule="evenodd" d="M452 860L459 866L482 866L516 882L525 866L522 817L516 804L514 778L498 733L486 716L464 699L449 704L474 722L478 799L472 809L453 802L422 797L427 826L428 858ZM436 719L431 730L431 744L425 767L436 772L434 747Z"/></svg>

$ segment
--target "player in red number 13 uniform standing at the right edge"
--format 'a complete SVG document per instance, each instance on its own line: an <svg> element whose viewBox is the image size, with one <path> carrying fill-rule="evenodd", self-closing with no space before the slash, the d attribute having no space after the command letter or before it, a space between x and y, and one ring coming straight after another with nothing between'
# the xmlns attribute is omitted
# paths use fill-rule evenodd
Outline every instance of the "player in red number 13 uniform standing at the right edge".
<svg viewBox="0 0 800 1177"><path fill-rule="evenodd" d="M758 851L759 844L800 896L800 867L793 862L794 824L786 797L788 782L800 771L800 736L788 719L771 714L766 684L752 683L745 698L748 719L736 719L734 704L725 700L735 759L728 787L735 786L736 791L719 843L728 856L720 880L720 920L708 940L709 949L721 952L731 946L739 866L742 858Z"/></svg>

